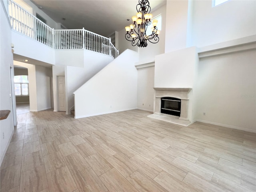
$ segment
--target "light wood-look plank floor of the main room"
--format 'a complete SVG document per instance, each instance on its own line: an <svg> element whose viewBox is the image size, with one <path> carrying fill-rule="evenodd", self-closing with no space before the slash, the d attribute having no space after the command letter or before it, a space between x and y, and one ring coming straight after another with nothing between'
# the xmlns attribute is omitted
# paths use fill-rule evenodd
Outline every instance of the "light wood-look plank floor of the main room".
<svg viewBox="0 0 256 192"><path fill-rule="evenodd" d="M256 191L256 134L148 114L18 115L1 192Z"/></svg>

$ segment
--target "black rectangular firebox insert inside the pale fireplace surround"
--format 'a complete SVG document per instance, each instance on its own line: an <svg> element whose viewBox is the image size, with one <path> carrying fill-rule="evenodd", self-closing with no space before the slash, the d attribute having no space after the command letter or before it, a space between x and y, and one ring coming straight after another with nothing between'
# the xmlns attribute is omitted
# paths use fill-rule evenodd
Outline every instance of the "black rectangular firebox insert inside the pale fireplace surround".
<svg viewBox="0 0 256 192"><path fill-rule="evenodd" d="M161 113L180 117L181 100L174 97L161 98Z"/></svg>

